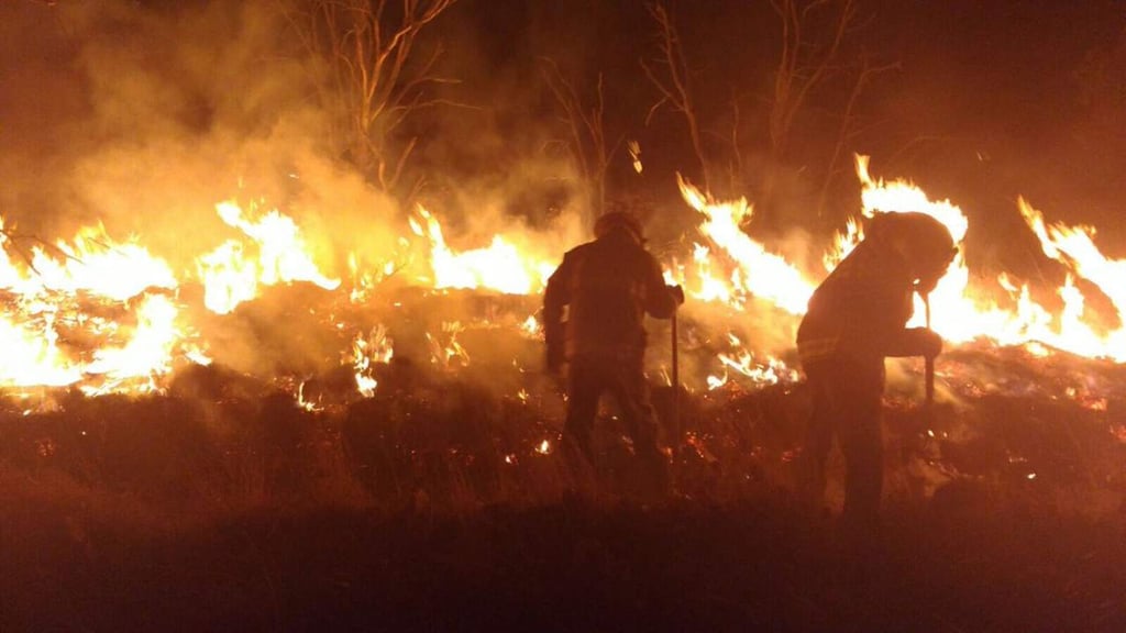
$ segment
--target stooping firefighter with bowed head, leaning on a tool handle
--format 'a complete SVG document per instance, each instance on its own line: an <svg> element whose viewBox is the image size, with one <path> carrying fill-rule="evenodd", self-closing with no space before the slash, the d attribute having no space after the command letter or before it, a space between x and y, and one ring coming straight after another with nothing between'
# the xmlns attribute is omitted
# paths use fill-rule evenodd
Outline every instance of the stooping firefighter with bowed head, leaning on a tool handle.
<svg viewBox="0 0 1126 633"><path fill-rule="evenodd" d="M814 291L797 330L812 400L799 484L820 506L835 436L846 467L841 524L856 535L879 524L884 359L941 353L941 337L906 323L914 293L929 294L957 252L949 231L922 213L881 213L866 233Z"/></svg>

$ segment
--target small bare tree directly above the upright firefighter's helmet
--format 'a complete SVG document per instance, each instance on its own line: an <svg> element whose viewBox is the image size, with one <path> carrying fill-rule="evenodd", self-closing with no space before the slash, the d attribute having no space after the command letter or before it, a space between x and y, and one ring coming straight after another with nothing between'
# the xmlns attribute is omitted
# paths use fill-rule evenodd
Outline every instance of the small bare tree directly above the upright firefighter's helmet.
<svg viewBox="0 0 1126 633"><path fill-rule="evenodd" d="M563 77L554 60L544 60L543 75L563 110L564 121L571 135L568 148L589 187L590 208L597 213L598 209L606 206L606 172L610 166L610 157L622 142L620 136L613 143L608 143L606 139L602 73L598 73L598 82L591 102L583 100L575 89L574 82Z"/></svg>

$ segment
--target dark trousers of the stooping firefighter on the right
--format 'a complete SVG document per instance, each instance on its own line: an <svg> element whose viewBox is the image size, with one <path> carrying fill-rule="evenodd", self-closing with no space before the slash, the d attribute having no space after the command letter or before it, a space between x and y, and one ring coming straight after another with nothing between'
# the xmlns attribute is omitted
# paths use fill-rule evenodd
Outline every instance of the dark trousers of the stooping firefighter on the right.
<svg viewBox="0 0 1126 633"><path fill-rule="evenodd" d="M842 519L875 527L884 482L884 360L822 360L806 366L805 375L813 404L801 482L805 493L817 502L824 496L825 461L835 436L846 467Z"/></svg>

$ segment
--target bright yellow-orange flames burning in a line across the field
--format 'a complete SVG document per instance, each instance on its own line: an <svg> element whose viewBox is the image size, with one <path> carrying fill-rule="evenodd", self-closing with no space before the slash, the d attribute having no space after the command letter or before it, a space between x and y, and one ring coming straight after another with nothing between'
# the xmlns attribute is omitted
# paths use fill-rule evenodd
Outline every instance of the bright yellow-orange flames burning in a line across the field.
<svg viewBox="0 0 1126 633"><path fill-rule="evenodd" d="M682 284L690 297L682 311L682 331L690 332L691 340L685 337L685 342L706 341L714 350L713 357L697 367L698 375L686 377L686 386L717 389L733 381L756 386L797 381L797 372L783 360L789 349L778 346L792 341L788 330L805 312L820 279L863 239L864 217L908 211L927 213L941 221L958 243L964 241L969 223L951 202L931 199L906 180L874 178L866 157L857 157L856 171L861 185L860 213L825 249L824 268L812 271L787 261L743 230L753 213L745 198L715 200L679 181L685 202L700 214L698 235L689 252L669 255L663 262L664 276L668 283ZM1010 275L994 279L972 276L959 252L930 296L931 327L951 346L984 340L997 346L1022 346L1027 357L1065 350L1126 360L1121 318L1126 291L1118 283L1126 276L1126 260L1105 256L1097 247L1093 228L1048 223L1024 198L1018 200L1018 207L1045 256L1066 271L1060 287L1048 289L1061 307L1049 309L1038 302L1035 297L1043 296L1043 288L1034 292L1028 283ZM390 362L394 354L393 328L388 327L393 324L373 324L373 312L366 312L374 306L399 305L388 301L384 280L399 275L405 283L428 289L535 295L543 292L565 247L553 242L552 237L537 244L530 234L509 232L492 235L483 248L458 251L447 243L438 219L419 206L408 219L403 235L394 242L394 252L349 256L349 287L340 291L340 279L325 273L331 267L318 261L313 242L306 240L293 219L278 209L260 213L258 205L243 211L233 202L218 204L216 212L240 235L225 241L218 238L218 246L195 257L194 271L184 273L186 279L203 286L202 306L186 304L188 300L180 294L181 279L137 238L118 242L97 224L79 230L70 241L50 247L36 241L30 248L19 248L19 238L0 222L0 345L5 348L0 387L12 389L16 395L20 390L43 386L73 386L91 395L159 391L178 365L211 362L208 341L190 321L191 315L200 313L194 307L230 314L267 286L303 282L327 293L330 307L318 313L330 315L327 327L339 332L342 348L329 350L329 363L339 360L355 376L358 393L369 398L378 386L377 366ZM409 239L412 233L414 238ZM419 261L417 238L423 239L425 261ZM422 265L423 273L419 273L418 265ZM1091 287L1109 300L1115 310L1112 319L1092 313L1091 302L1083 294ZM520 304L520 309L525 305ZM751 311L763 306L777 309L777 314L769 315L769 326L781 333L770 345L736 327ZM911 324L923 326L924 313L920 302ZM435 332L435 324L426 332L422 354L428 349L432 365L443 371L458 371L470 364L471 350L458 340L467 329L510 328L526 345L534 345L543 336L536 314L522 321L497 319L497 314L437 316L434 323L441 322L441 329ZM1105 324L1108 321L1111 327ZM717 347L704 331L704 322L713 331L729 332L720 337ZM520 368L526 359L512 363ZM292 380L294 395L302 405L315 407L305 402L302 381L306 377ZM526 401L529 394L520 390L518 398ZM1080 390L1069 398L1096 410L1106 407L1099 393Z"/></svg>

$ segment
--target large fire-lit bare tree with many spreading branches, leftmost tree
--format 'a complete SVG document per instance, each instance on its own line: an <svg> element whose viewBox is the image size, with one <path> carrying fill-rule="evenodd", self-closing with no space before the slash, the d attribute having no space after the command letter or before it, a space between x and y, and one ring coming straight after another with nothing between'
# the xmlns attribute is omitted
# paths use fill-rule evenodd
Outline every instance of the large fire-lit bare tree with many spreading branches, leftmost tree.
<svg viewBox="0 0 1126 633"><path fill-rule="evenodd" d="M418 137L395 133L412 113L440 102L429 87L450 81L435 74L443 47L419 53L418 37L457 0L277 1L305 52L328 71L321 98L349 158L381 188L396 188Z"/></svg>

